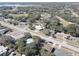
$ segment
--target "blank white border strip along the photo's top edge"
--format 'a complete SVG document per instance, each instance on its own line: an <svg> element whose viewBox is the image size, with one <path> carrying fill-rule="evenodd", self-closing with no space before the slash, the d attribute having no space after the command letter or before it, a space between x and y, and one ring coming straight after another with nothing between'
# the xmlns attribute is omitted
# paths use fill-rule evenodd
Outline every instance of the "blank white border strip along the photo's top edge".
<svg viewBox="0 0 79 59"><path fill-rule="evenodd" d="M79 2L79 0L0 0L0 2Z"/></svg>

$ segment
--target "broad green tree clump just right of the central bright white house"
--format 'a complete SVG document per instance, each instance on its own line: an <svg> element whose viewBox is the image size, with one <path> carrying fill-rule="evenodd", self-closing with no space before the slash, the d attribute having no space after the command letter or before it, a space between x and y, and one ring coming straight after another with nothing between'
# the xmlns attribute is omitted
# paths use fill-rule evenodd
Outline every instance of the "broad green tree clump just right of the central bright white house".
<svg viewBox="0 0 79 59"><path fill-rule="evenodd" d="M45 28L49 29L49 30L60 31L60 32L63 31L63 25L60 24L60 21L57 20L57 19L47 21L46 25L45 25Z"/></svg>

